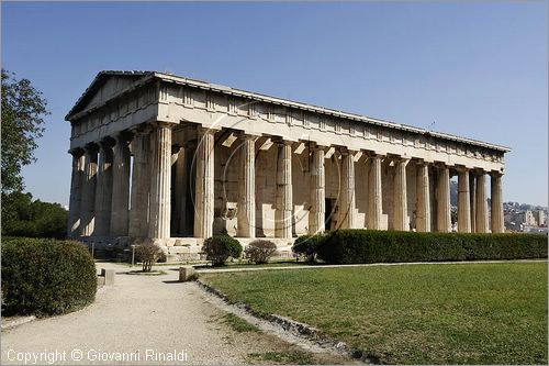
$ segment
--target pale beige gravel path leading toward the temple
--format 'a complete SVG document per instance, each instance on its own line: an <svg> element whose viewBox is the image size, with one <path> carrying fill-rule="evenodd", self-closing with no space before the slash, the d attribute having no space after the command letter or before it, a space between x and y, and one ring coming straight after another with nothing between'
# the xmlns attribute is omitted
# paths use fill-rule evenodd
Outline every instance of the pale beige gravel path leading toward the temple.
<svg viewBox="0 0 549 366"><path fill-rule="evenodd" d="M116 264L99 267L128 270ZM101 288L86 309L2 331L2 364L22 364L13 358L24 355L56 356L55 364L243 364L249 353L276 346L267 334L236 333L195 284L177 282L178 273L165 270L163 276L117 274L115 285ZM74 350L81 351L80 362ZM164 357L176 351L187 359L147 358L147 350ZM116 362L119 353L134 358Z"/></svg>

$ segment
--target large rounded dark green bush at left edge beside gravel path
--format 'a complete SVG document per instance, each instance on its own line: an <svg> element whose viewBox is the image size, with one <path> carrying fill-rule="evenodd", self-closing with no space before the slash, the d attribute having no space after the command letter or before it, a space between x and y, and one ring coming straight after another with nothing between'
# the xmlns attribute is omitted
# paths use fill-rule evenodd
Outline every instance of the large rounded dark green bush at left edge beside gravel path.
<svg viewBox="0 0 549 366"><path fill-rule="evenodd" d="M54 315L96 298L96 265L86 246L53 239L2 240L2 311Z"/></svg>

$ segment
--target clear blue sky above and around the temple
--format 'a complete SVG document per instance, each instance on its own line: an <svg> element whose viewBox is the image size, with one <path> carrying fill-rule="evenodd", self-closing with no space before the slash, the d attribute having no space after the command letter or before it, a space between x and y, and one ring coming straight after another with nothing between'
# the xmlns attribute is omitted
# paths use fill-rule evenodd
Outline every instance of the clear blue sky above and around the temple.
<svg viewBox="0 0 549 366"><path fill-rule="evenodd" d="M547 1L8 3L2 67L52 115L23 170L68 203L65 114L104 69L158 70L511 146L504 200L547 206Z"/></svg>

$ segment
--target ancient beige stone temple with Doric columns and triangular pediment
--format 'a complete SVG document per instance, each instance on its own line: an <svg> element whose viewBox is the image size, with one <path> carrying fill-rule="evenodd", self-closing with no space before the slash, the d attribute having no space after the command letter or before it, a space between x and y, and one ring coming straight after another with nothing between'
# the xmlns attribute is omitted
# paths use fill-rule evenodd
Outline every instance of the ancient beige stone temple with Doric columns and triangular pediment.
<svg viewBox="0 0 549 366"><path fill-rule="evenodd" d="M453 176L457 230L503 231L504 146L154 71L100 73L66 119L83 241L448 232Z"/></svg>

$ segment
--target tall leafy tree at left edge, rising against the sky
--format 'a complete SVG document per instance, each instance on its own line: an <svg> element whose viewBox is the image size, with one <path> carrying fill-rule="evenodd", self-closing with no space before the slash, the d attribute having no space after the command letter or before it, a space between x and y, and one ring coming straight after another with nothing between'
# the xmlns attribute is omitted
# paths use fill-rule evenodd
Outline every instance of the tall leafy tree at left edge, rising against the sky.
<svg viewBox="0 0 549 366"><path fill-rule="evenodd" d="M2 223L15 218L9 195L24 188L21 168L34 163L36 140L44 132L47 101L30 80L2 69Z"/></svg>

